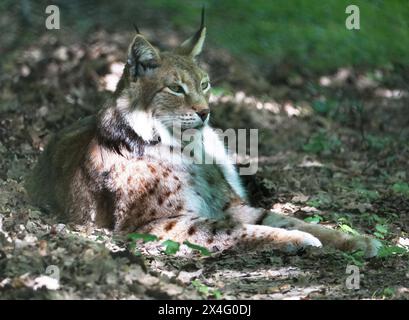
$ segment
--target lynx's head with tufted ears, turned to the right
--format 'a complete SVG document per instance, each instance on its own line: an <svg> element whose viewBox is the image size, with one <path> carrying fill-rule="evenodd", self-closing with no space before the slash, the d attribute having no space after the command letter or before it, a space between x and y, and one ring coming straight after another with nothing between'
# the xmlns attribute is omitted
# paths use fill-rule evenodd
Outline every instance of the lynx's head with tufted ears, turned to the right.
<svg viewBox="0 0 409 320"><path fill-rule="evenodd" d="M199 30L172 52L159 52L138 32L117 87L119 107L122 104L130 118L143 113L167 128L175 123L182 129L207 124L210 81L196 62L205 35L204 11Z"/></svg>

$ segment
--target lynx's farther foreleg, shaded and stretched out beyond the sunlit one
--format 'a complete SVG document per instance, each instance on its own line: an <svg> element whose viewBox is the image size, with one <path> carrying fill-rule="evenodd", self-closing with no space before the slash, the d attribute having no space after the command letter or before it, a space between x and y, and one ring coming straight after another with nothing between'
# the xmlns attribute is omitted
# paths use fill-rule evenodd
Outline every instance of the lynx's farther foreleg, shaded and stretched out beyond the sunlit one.
<svg viewBox="0 0 409 320"><path fill-rule="evenodd" d="M263 225L286 228L290 230L301 230L317 237L324 245L330 245L342 251L362 250L365 257L370 258L377 255L381 243L368 236L353 236L338 230L304 222L293 217L283 216L268 212L262 221Z"/></svg>

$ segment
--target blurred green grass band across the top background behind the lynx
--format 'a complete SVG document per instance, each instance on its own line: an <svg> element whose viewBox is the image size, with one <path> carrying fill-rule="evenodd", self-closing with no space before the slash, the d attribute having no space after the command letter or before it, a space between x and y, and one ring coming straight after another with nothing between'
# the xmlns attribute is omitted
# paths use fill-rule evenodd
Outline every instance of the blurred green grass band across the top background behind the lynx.
<svg viewBox="0 0 409 320"><path fill-rule="evenodd" d="M150 13L150 19L166 19L187 35L197 26L203 4L209 41L263 65L289 64L294 69L326 72L344 66L409 64L409 6L405 1L355 1L361 11L361 29L356 31L345 27L348 0L88 0L58 5L68 32L87 34L98 26L131 31L133 22ZM44 5L44 1L32 2L34 25L22 36L38 39ZM19 8L15 7L17 16Z"/></svg>

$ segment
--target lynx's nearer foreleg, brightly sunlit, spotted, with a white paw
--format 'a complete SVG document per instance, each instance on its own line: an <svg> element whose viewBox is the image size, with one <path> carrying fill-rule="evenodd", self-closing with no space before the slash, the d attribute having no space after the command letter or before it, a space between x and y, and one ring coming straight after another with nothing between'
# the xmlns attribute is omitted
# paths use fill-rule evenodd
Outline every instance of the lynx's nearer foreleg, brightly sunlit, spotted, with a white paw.
<svg viewBox="0 0 409 320"><path fill-rule="evenodd" d="M215 221L184 215L153 221L138 231L154 234L163 240L181 243L188 240L211 251L251 248L296 252L307 246L321 246L317 238L306 232L241 224L229 218Z"/></svg>

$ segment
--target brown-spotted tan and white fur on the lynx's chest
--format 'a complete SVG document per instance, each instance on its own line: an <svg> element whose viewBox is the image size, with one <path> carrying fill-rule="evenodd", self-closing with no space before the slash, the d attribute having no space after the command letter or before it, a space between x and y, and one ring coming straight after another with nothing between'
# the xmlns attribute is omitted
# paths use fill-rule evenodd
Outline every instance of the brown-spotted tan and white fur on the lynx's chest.
<svg viewBox="0 0 409 320"><path fill-rule="evenodd" d="M112 194L110 198L114 197L119 215L117 229L132 231L158 218L185 214L221 219L231 201L245 199L222 141L207 124L196 130L192 140L197 145L191 146L195 151L192 157L190 152L186 154L185 145L148 113L138 112L127 120L145 141L151 141L156 132L161 142L145 145L143 155L135 156L126 151L115 153L94 140L86 161L88 173L78 173L93 177L94 182L88 181L87 186L98 186L95 192ZM214 163L202 163L205 155ZM75 210L90 212L89 208ZM104 212L98 217L98 210L91 212L93 222L109 216Z"/></svg>

